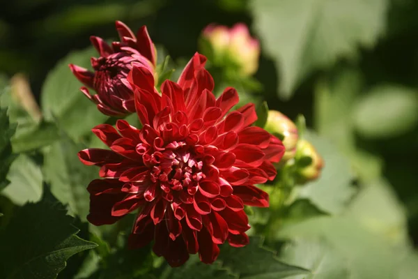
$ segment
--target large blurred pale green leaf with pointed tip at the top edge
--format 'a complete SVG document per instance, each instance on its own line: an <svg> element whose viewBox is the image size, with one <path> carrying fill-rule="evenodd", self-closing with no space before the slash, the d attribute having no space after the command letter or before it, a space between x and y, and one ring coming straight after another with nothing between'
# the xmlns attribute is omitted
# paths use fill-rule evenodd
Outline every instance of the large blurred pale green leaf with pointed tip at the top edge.
<svg viewBox="0 0 418 279"><path fill-rule="evenodd" d="M314 70L353 59L384 31L387 0L252 1L263 47L281 73L279 93L291 98Z"/></svg>

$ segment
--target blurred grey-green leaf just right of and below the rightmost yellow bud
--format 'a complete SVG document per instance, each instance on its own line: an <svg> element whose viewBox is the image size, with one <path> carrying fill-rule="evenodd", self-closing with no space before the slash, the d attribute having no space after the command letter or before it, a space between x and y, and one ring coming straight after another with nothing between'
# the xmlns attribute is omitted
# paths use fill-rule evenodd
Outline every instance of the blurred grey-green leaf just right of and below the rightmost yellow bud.
<svg viewBox="0 0 418 279"><path fill-rule="evenodd" d="M316 181L300 188L299 197L309 199L322 211L339 213L355 193L350 162L328 140L308 132L305 137L322 156L325 167Z"/></svg>

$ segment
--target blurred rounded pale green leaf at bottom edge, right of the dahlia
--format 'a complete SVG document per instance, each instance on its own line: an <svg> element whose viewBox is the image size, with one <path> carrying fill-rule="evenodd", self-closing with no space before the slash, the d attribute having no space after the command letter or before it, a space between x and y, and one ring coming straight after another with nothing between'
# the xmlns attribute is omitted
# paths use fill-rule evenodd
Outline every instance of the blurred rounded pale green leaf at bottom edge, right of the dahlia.
<svg viewBox="0 0 418 279"><path fill-rule="evenodd" d="M302 266L311 271L308 275L287 279L348 279L346 259L325 241L295 239L281 250L284 262Z"/></svg>

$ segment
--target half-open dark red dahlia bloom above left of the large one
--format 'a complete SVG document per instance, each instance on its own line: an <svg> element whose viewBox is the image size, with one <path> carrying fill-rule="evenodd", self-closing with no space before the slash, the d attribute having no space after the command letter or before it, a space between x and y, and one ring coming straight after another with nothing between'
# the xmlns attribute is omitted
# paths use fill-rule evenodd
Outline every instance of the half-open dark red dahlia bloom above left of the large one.
<svg viewBox="0 0 418 279"><path fill-rule="evenodd" d="M91 43L100 54L98 59L91 58L94 73L73 64L69 66L80 82L97 92L92 96L86 87L81 89L100 112L124 116L135 112L134 93L126 80L127 74L133 66L154 73L157 54L145 26L138 30L137 36L123 22L117 21L116 29L121 42L113 42L111 46L102 38L91 36Z"/></svg>

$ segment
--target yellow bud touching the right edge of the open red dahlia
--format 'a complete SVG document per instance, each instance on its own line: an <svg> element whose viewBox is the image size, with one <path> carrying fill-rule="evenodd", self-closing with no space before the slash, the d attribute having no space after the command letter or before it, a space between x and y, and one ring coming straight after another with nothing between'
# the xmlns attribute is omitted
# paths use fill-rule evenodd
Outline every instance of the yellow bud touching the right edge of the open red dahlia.
<svg viewBox="0 0 418 279"><path fill-rule="evenodd" d="M296 125L291 119L288 119L281 112L277 112L277 110L270 110L264 128L272 135L279 137L283 142L286 148L286 152L281 159L283 162L295 157L298 136Z"/></svg>

